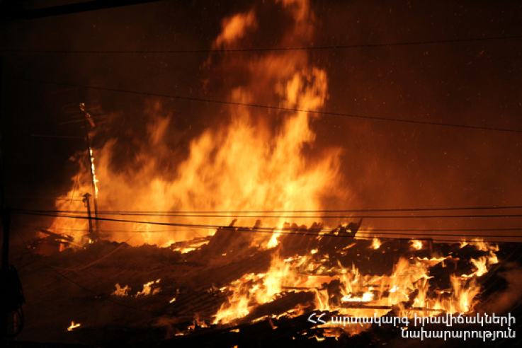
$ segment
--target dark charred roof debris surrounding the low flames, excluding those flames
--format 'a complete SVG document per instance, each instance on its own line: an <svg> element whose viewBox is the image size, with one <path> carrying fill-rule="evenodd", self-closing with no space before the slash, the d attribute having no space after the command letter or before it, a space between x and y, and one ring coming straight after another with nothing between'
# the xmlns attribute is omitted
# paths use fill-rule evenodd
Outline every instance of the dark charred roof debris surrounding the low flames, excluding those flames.
<svg viewBox="0 0 522 348"><path fill-rule="evenodd" d="M276 253L279 257L287 258L310 255L311 250L317 249L312 257L324 260L322 264L326 268L339 264L351 268L353 264L362 274L391 275L399 257L430 257L429 248L412 250L407 240L387 240L375 250L370 240L321 237L323 231L319 224L312 224L310 228L286 224L283 231L286 228L289 233L280 235L278 247L263 250L252 247L251 242L256 238L269 238L269 233L260 233L257 224L251 228L231 225L219 229L212 237L174 243L169 248L158 248L155 245L132 248L122 243L101 240L86 245L85 249L67 249L55 255L37 257L47 265L75 269L89 265L121 247L80 272L59 270L64 277L94 294L25 257L23 265L20 265L20 276L27 301L25 314L30 320L19 338L26 342L41 342L50 337L51 332L57 342L82 342L102 347L124 344L127 347L144 347L149 344L157 347L241 347L249 346L254 340L261 342L261 347L308 347L310 344L317 344L318 347L324 347L325 344L346 347L346 344L369 344L375 340L398 340L397 331L390 327L370 327L360 335L350 336L339 327L325 328L308 322L307 318L314 311L315 291L326 290L328 296L338 301L339 308L379 309L389 311L389 315L395 315L396 311L392 306L339 301L339 280L335 280L339 274L318 273L319 269L308 274L317 279L330 279L320 286L283 286L283 293L274 301L251 308L244 318L227 325L214 325L213 315L227 301L229 294L220 291L223 286L244 274L267 272ZM335 232L348 233L348 229L345 232L341 226L335 228ZM297 233L313 235L301 236ZM176 248L187 248L206 240L207 245L188 253L176 251ZM501 245L497 253L499 260L510 255L515 248L514 245ZM448 274L454 272L465 274L470 271L468 260L471 257L489 255L469 245L460 248L458 244L444 243L436 244L433 249L443 255L452 253L452 257L445 261L445 267L441 263L429 267L430 274L441 279L448 278ZM491 276L487 278L487 298L506 289L506 282L501 277L504 271L501 268L492 269L491 274L487 274ZM156 279L161 279L154 285L161 288L157 294L136 297L143 284ZM480 282L481 279L477 280ZM129 294L122 297L111 295L116 283L130 286ZM448 285L435 278L431 279L430 284L429 294L433 294L437 287L445 289ZM388 289L384 286L382 291ZM176 300L171 302L173 298ZM305 313L298 315L296 312L295 318L284 315L296 306L300 306L300 310ZM437 314L428 308L416 308L411 303L404 303L404 306L419 312ZM519 310L520 306L516 311ZM282 316L274 318L279 315ZM72 320L81 323L81 327L67 332ZM520 321L517 320L518 323ZM334 333L340 335L337 340L328 336ZM324 338L324 341L318 342L315 337Z"/></svg>

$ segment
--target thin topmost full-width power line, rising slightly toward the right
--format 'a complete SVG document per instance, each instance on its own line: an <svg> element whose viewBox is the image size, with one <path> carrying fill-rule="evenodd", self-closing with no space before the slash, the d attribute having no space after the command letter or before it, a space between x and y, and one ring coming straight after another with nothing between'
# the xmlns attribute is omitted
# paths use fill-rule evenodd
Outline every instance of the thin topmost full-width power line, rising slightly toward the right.
<svg viewBox="0 0 522 348"><path fill-rule="evenodd" d="M445 43L463 43L492 40L520 39L522 35L474 37L467 39L429 40L413 42L391 42L361 45L329 45L307 47L276 47L276 48L238 48L215 50L0 50L5 53L59 53L59 54L166 54L166 53L227 53L227 52L286 52L286 51L317 51L317 50L348 50L353 48L397 47L414 45L436 45Z"/></svg>

